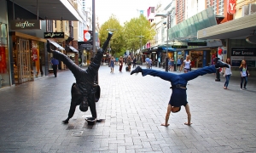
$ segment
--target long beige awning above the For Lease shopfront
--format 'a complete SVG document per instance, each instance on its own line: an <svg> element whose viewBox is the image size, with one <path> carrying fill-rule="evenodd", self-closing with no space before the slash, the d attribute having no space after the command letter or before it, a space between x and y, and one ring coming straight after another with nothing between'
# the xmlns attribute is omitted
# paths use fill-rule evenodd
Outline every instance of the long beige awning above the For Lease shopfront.
<svg viewBox="0 0 256 153"><path fill-rule="evenodd" d="M207 27L197 31L198 39L245 39L256 29L256 14L249 14L236 20Z"/></svg>

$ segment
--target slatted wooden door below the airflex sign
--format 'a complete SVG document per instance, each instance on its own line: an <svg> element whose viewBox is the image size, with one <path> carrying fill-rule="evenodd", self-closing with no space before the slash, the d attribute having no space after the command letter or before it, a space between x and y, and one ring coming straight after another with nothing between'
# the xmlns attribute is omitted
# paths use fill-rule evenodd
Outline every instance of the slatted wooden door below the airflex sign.
<svg viewBox="0 0 256 153"><path fill-rule="evenodd" d="M22 83L31 80L30 49L28 40L19 38L18 42L18 83Z"/></svg>

